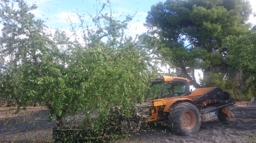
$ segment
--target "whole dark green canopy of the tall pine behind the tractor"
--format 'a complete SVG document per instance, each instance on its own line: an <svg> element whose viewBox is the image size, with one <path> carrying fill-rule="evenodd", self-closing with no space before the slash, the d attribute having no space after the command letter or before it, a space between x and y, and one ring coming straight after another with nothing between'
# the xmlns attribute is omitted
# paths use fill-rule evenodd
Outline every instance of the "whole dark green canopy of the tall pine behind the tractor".
<svg viewBox="0 0 256 143"><path fill-rule="evenodd" d="M159 39L162 44L155 51L195 82L194 69L226 72L227 52L219 49L222 40L247 31L250 14L251 6L244 0L166 0L148 12L145 25L151 38L145 40Z"/></svg>

